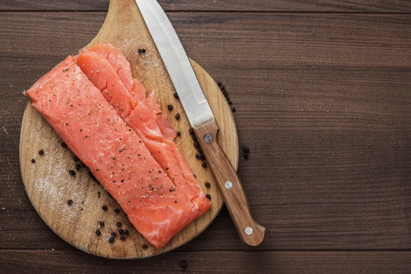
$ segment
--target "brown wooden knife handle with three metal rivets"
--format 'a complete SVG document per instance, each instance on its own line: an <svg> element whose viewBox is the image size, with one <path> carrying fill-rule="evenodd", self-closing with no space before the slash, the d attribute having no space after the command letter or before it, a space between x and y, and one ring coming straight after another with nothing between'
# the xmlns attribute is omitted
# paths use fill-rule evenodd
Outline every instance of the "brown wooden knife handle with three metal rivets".
<svg viewBox="0 0 411 274"><path fill-rule="evenodd" d="M264 240L265 228L251 216L240 178L217 142L219 125L212 121L194 131L241 240L247 245L260 245Z"/></svg>

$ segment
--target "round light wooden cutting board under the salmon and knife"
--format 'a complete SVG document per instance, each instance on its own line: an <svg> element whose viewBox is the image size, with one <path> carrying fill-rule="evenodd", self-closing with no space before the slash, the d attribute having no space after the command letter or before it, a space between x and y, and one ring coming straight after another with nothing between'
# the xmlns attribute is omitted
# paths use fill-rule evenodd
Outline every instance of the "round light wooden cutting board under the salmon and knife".
<svg viewBox="0 0 411 274"><path fill-rule="evenodd" d="M122 210L120 213L114 211L121 207L108 196L108 192L105 192L100 184L90 178L86 167L77 171L75 176L69 175L69 170L75 169L76 164L73 153L62 147L62 140L30 104L25 108L21 126L21 174L34 208L53 232L66 242L87 253L107 258L147 258L184 245L203 232L221 210L223 199L210 169L204 169L201 160L195 158L197 150L188 133L190 124L182 105L173 97L173 84L135 1L110 1L110 8L100 32L86 47L100 43L111 43L123 52L132 66L133 76L143 82L147 90L157 92L158 103L163 112L168 115L175 130L182 134L175 142L193 173L197 175L203 191L211 195L212 208L179 232L168 245L155 249L134 229ZM145 49L146 52L138 53L138 49ZM55 62L57 64L60 60ZM221 147L237 169L238 138L229 105L210 75L199 64L191 62L221 127ZM166 108L169 104L174 106L171 112ZM175 119L177 113L181 115L179 121ZM44 155L38 153L41 149ZM34 163L32 159L35 160ZM209 188L205 186L205 182L210 182ZM67 203L69 199L73 200L73 204ZM108 210L102 210L102 206L108 206ZM100 227L100 221L104 221L104 227ZM115 242L110 243L108 238L111 232L118 230L117 222L121 222L122 228L129 229L130 233L126 240L122 241L117 236ZM96 229L101 230L101 236L96 236Z"/></svg>

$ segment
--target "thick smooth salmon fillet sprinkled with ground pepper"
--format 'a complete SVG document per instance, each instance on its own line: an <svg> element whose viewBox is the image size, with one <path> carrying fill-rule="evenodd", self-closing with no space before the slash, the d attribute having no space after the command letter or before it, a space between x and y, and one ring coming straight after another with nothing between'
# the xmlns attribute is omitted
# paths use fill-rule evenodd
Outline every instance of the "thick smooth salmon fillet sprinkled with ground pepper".
<svg viewBox="0 0 411 274"><path fill-rule="evenodd" d="M109 91L112 84L121 86L123 82L106 84L103 90ZM142 139L121 119L122 112L117 114L110 105L118 103L130 115L139 104L134 97L125 100L123 94L110 91L105 95L71 56L25 95L155 247L166 245L199 215L198 206L175 187ZM158 153L169 151L159 149Z"/></svg>

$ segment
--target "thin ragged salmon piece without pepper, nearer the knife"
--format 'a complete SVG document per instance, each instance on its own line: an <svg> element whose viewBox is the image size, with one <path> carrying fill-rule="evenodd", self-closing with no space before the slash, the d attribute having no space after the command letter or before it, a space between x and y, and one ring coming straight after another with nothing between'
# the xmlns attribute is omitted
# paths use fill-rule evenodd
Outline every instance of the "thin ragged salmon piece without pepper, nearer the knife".
<svg viewBox="0 0 411 274"><path fill-rule="evenodd" d="M115 56L115 57L114 57ZM212 203L201 190L199 182L192 174L181 151L169 134L171 125L162 115L156 101L155 93L145 95L144 86L132 79L129 62L123 54L112 45L95 45L90 50L84 50L76 58L80 69L90 78L91 82L103 93L108 93L108 101L142 139L153 158L166 171L175 186L181 189L188 199L199 208L197 216L206 212ZM105 73L107 82L101 82L101 75L95 73L99 68ZM119 73L119 68L120 72ZM118 84L123 82L123 85ZM109 97L121 98L121 103L110 100ZM131 112L124 112L123 105L137 102ZM164 121L165 120L165 121ZM173 138L170 138L172 136Z"/></svg>

